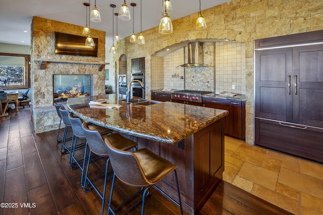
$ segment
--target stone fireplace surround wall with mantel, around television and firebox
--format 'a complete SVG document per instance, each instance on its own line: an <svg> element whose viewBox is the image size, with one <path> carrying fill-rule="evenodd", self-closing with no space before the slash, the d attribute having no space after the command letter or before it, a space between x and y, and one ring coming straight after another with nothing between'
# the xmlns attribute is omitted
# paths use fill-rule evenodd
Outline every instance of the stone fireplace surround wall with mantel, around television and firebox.
<svg viewBox="0 0 323 215"><path fill-rule="evenodd" d="M98 71L105 60L105 32L91 29L98 38L98 57L55 54L55 31L81 35L82 26L34 17L31 26L31 88L32 122L36 133L55 130L59 118L53 106L53 74L92 74L94 95L105 94L104 71ZM85 41L84 41L85 42ZM47 61L40 69L41 61Z"/></svg>

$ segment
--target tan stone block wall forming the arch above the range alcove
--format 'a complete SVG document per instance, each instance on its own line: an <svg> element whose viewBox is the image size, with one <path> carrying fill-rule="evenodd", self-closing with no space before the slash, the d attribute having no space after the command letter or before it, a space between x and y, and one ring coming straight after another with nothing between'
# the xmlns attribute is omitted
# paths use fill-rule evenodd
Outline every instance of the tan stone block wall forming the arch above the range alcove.
<svg viewBox="0 0 323 215"><path fill-rule="evenodd" d="M228 39L245 44L245 83L246 83L246 143L254 144L253 109L253 41L255 39L323 30L323 2L321 0L233 0L223 5L202 11L207 30L196 30L197 13L173 20L172 34L159 34L158 26L143 32L144 46L129 42L129 37L117 43L114 62L122 54L127 59L146 57L146 73L152 77L155 71L149 70L152 56L161 49L184 41L198 39ZM171 16L172 18L172 16ZM130 36L130 35L129 35ZM118 61L117 61L118 62ZM131 73L128 61L128 74ZM157 72L157 71L156 71ZM118 65L117 65L118 73ZM147 77L147 75L146 75ZM146 95L149 93L146 88Z"/></svg>

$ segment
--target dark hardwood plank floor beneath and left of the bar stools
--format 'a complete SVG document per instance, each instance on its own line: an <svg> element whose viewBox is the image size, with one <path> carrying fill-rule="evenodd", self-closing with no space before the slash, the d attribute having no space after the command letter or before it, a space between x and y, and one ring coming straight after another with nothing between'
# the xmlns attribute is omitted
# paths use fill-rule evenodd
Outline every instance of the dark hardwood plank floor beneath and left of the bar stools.
<svg viewBox="0 0 323 215"><path fill-rule="evenodd" d="M100 214L100 198L94 190L83 192L81 171L70 169L69 155L61 154L61 143L56 142L56 135L57 130L35 134L29 110L11 111L9 117L0 117L0 198L7 203L0 214ZM82 155L81 150L78 155ZM100 175L104 165L103 158L91 163L90 176ZM105 201L109 200L111 181L107 182ZM116 185L114 199L118 202L135 191L118 180ZM102 187L100 184L99 188ZM107 204L104 214L106 209ZM129 214L140 214L140 209L137 206ZM174 203L151 189L145 214L179 213ZM199 214L290 213L221 182Z"/></svg>

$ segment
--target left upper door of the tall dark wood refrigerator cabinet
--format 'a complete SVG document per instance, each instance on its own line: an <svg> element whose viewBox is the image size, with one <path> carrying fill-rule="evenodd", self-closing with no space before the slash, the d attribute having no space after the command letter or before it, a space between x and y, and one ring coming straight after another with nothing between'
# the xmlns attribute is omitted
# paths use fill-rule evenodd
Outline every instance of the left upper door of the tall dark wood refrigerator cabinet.
<svg viewBox="0 0 323 215"><path fill-rule="evenodd" d="M255 51L255 117L292 121L292 48Z"/></svg>

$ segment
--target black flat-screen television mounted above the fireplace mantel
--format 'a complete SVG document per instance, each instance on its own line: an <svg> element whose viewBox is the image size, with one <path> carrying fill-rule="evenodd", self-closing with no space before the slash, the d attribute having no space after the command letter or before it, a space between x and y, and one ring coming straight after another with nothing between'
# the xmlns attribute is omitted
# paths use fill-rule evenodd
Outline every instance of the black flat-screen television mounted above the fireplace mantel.
<svg viewBox="0 0 323 215"><path fill-rule="evenodd" d="M87 37L55 32L55 53L57 55L97 57L97 38L92 38L94 46L85 46Z"/></svg>

